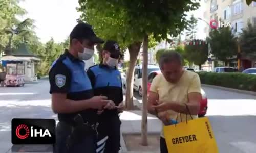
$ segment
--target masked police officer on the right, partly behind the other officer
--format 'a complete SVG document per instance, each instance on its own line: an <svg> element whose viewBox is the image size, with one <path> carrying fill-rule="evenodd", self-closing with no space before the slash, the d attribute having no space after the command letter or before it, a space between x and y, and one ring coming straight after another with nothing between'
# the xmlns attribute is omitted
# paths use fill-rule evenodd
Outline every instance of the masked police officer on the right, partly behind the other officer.
<svg viewBox="0 0 256 153"><path fill-rule="evenodd" d="M99 134L104 145L104 153L118 153L120 149L119 113L123 111L123 92L121 74L117 69L120 48L116 41L107 41L102 51L103 61L99 65L88 69L87 74L91 80L95 95L103 95L112 100L103 109L98 111ZM103 149L103 148L102 148Z"/></svg>

